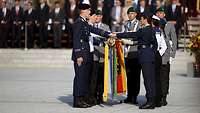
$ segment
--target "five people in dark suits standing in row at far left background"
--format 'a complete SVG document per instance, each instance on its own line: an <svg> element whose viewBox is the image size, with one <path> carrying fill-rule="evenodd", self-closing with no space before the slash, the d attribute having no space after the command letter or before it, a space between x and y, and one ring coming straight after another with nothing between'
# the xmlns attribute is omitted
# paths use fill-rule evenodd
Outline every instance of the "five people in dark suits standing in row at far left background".
<svg viewBox="0 0 200 113"><path fill-rule="evenodd" d="M48 47L48 30L53 31L53 46L61 47L62 30L65 29L65 13L59 1L55 1L55 8L50 8L45 0L39 1L40 5L33 8L33 3L28 1L27 9L20 6L20 0L15 0L15 5L9 9L6 0L2 1L0 8L0 48L8 47L8 37L12 33L11 47L20 48L22 33L27 33L27 47L33 48L35 28L38 28L39 47ZM10 32L10 30L12 32Z"/></svg>

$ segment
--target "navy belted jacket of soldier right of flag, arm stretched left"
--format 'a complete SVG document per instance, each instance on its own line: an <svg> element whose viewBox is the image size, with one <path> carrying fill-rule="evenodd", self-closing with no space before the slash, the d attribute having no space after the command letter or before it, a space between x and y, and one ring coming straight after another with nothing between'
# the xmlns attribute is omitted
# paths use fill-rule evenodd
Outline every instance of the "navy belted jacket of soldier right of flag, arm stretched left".
<svg viewBox="0 0 200 113"><path fill-rule="evenodd" d="M146 26L137 32L117 33L117 37L133 37L134 40L138 40L138 57L140 63L155 61L158 44L155 31L150 26Z"/></svg>

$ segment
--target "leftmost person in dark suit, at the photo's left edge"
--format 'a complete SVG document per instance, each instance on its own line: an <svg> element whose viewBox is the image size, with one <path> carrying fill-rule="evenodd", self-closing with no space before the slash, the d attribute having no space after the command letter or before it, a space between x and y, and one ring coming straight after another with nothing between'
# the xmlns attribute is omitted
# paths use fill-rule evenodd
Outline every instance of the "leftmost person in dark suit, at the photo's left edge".
<svg viewBox="0 0 200 113"><path fill-rule="evenodd" d="M7 47L7 37L10 28L10 10L6 8L6 1L2 1L2 8L0 9L0 48Z"/></svg>

